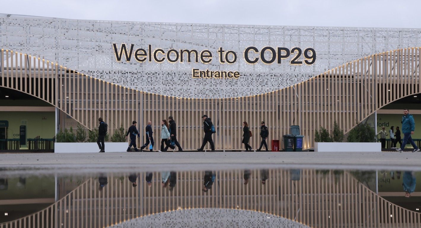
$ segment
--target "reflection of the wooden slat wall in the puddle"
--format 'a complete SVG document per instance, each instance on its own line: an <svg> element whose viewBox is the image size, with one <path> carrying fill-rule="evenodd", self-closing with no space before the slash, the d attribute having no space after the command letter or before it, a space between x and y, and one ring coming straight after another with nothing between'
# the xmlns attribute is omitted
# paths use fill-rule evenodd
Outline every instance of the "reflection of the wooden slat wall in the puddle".
<svg viewBox="0 0 421 228"><path fill-rule="evenodd" d="M384 200L347 172L300 173L269 170L269 179L262 185L260 171L253 170L244 185L243 171L217 171L207 193L202 191L204 172L197 171L177 172L173 191L161 187L160 172L153 173L151 187L144 180L145 173L139 173L136 188L127 175L109 175L108 184L99 191L98 180L91 178L47 209L8 224L34 227L32 218L40 216L42 227L63 223L64 227L96 228L160 212L222 208L265 212L318 228L421 225L414 220L420 213Z"/></svg>

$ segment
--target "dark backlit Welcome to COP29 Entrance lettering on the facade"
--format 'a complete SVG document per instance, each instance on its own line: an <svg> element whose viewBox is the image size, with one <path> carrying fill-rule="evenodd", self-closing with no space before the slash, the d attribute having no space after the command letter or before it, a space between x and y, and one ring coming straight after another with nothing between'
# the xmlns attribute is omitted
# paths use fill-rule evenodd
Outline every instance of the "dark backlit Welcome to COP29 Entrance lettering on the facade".
<svg viewBox="0 0 421 228"><path fill-rule="evenodd" d="M126 62L132 61L134 58L139 63L145 61L157 63L162 63L168 61L171 63L176 62L188 62L188 63L203 63L209 64L213 61L213 54L210 50L188 50L188 49L170 49L163 50L157 48L153 50L152 45L148 45L146 49L144 48L134 48L134 44L131 44L130 47L125 43L120 44L120 47L116 43L113 43L115 58L118 62L123 61L123 58ZM301 48L284 48L284 47L264 47L260 50L256 47L250 46L245 48L243 54L243 59L248 64L256 64L262 62L264 64L281 64L283 61L288 61L291 65L312 65L316 61L316 51L313 48L306 48L304 52ZM304 56L304 58L303 58ZM224 50L222 47L216 50L216 59L218 59L220 64L234 64L237 61L237 53L233 50ZM304 61L303 61L304 60ZM211 71L209 69L200 70L192 69L193 78L219 78L219 79L238 79L240 77L240 72L232 71Z"/></svg>

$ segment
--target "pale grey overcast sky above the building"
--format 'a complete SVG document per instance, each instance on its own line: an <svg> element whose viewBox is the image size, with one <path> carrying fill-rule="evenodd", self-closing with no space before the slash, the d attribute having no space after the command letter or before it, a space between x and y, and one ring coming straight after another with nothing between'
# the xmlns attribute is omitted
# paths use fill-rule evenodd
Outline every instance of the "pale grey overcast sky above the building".
<svg viewBox="0 0 421 228"><path fill-rule="evenodd" d="M421 0L4 0L0 13L67 19L421 27Z"/></svg>

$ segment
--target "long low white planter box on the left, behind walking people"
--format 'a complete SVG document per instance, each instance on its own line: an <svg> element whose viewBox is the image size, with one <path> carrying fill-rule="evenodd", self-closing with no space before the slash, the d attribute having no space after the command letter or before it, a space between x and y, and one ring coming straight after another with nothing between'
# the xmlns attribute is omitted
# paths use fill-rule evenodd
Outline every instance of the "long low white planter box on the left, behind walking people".
<svg viewBox="0 0 421 228"><path fill-rule="evenodd" d="M105 152L125 152L128 142L105 143ZM98 153L96 143L54 143L54 153Z"/></svg>

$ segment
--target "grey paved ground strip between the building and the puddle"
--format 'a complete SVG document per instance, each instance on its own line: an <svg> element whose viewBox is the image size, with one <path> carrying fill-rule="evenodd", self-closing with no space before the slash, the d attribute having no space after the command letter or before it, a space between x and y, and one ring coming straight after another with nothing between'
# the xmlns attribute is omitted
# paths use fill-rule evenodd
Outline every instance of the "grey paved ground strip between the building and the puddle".
<svg viewBox="0 0 421 228"><path fill-rule="evenodd" d="M0 154L0 173L315 168L421 171L411 152L122 152Z"/></svg>

